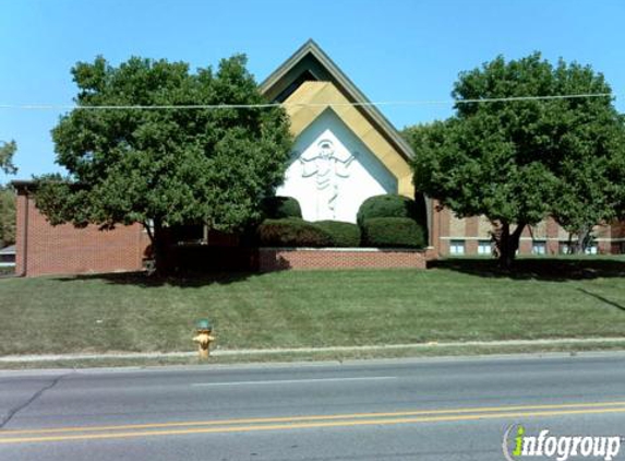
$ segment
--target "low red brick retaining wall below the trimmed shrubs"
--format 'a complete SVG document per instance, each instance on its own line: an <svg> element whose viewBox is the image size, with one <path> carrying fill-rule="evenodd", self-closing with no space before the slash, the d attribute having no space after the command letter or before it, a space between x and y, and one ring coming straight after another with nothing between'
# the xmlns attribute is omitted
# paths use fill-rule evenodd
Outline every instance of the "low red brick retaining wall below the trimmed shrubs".
<svg viewBox="0 0 625 461"><path fill-rule="evenodd" d="M425 269L432 250L260 248L261 272L302 269Z"/></svg>

